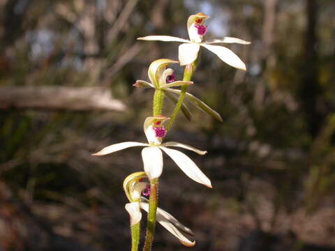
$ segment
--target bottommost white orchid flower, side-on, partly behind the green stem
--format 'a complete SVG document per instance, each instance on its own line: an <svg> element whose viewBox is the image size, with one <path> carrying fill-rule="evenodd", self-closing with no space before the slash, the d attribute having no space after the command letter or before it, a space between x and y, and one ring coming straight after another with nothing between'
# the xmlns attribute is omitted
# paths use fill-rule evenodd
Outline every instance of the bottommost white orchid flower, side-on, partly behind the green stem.
<svg viewBox="0 0 335 251"><path fill-rule="evenodd" d="M149 204L146 198L141 197L141 193L147 189L149 183L143 182L142 179L147 178L144 172L137 172L131 174L124 180L124 190L126 195L131 201L127 203L125 208L128 211L131 218L131 227L139 223L142 219L142 213L140 209L144 211L149 211ZM165 229L167 229L171 234L179 239L179 241L188 247L193 247L195 241L190 241L188 236L194 236L193 231L188 227L182 225L176 218L174 218L170 213L164 211L161 208L157 208L156 220Z"/></svg>

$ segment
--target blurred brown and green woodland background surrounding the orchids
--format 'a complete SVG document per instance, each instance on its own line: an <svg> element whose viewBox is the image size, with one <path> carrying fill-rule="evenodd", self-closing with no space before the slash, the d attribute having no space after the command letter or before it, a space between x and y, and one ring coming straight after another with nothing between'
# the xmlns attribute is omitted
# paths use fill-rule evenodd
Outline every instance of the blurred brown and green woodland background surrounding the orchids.
<svg viewBox="0 0 335 251"><path fill-rule="evenodd" d="M136 38L188 38L198 12L207 40L252 42L227 46L248 70L202 50L189 92L223 123L191 107L166 140L209 151L187 154L213 189L165 158L160 206L193 229L192 250L335 250L334 0L1 0L1 251L130 249L121 185L141 149L90 153L146 141L153 92L132 84L178 43ZM157 233L154 250L186 249Z"/></svg>

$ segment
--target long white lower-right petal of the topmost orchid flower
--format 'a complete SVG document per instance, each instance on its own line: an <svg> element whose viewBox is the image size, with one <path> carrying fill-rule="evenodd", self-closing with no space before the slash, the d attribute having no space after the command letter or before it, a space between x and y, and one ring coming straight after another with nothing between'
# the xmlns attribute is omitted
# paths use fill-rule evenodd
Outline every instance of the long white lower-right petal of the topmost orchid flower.
<svg viewBox="0 0 335 251"><path fill-rule="evenodd" d="M202 44L202 46L216 54L222 61L228 63L228 65L241 70L246 70L246 65L243 61L241 61L241 59L228 48L219 45Z"/></svg>

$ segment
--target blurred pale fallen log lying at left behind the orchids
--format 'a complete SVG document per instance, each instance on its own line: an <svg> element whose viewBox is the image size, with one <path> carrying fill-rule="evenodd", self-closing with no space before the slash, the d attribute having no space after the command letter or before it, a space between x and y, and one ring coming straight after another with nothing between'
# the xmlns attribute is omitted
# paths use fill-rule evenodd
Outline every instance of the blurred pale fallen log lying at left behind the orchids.
<svg viewBox="0 0 335 251"><path fill-rule="evenodd" d="M0 88L0 109L117 111L126 106L101 87L10 86Z"/></svg>

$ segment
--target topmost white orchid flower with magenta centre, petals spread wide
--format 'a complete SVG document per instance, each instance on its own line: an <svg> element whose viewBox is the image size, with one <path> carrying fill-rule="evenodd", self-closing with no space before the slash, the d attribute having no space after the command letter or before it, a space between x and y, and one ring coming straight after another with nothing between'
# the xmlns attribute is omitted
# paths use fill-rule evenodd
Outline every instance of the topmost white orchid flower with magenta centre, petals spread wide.
<svg viewBox="0 0 335 251"><path fill-rule="evenodd" d="M225 37L223 39L216 39L210 42L202 42L202 37L207 31L207 26L204 25L204 21L209 18L204 13L198 13L191 15L187 20L187 30L190 40L184 38L177 38L174 36L146 36L143 38L137 38L138 40L158 40L165 42L180 42L179 45L179 62L181 66L186 66L193 63L198 58L198 52L200 46L205 47L216 54L222 61L228 63L228 65L246 70L246 65L239 59L239 56L234 54L231 50L220 45L211 45L216 43L239 43L241 45L248 45L250 42L241 40L239 38Z"/></svg>

